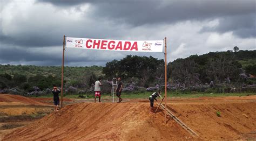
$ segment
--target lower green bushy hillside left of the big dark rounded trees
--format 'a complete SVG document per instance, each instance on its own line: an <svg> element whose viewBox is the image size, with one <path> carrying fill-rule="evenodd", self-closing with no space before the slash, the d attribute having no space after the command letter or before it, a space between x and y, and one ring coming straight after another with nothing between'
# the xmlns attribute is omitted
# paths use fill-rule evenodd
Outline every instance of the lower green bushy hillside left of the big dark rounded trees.
<svg viewBox="0 0 256 141"><path fill-rule="evenodd" d="M90 88L96 80L96 75L101 76L100 66L91 67L65 67L64 87ZM32 91L45 91L53 85L61 86L60 66L12 66L0 65L0 93L22 93Z"/></svg>

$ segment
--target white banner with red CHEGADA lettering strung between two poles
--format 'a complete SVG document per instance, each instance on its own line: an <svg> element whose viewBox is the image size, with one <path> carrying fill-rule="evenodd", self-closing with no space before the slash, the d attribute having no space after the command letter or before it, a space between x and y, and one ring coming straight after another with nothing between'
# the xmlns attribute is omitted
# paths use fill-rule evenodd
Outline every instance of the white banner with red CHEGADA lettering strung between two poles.
<svg viewBox="0 0 256 141"><path fill-rule="evenodd" d="M66 47L105 51L163 52L163 40L105 40L66 37Z"/></svg>

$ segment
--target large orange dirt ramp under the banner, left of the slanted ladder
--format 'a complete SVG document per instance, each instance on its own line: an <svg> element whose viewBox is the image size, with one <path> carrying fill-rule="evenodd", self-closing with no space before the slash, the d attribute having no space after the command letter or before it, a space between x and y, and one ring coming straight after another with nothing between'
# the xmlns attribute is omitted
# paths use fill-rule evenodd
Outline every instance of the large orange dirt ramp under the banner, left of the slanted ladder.
<svg viewBox="0 0 256 141"><path fill-rule="evenodd" d="M149 114L148 103L68 105L18 129L3 140L173 140L191 138L164 114Z"/></svg>

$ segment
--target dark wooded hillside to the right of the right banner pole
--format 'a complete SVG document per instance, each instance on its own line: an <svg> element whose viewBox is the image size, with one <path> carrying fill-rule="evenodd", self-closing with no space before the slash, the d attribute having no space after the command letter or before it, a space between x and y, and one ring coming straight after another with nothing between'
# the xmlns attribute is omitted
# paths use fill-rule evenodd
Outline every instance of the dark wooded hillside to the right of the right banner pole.
<svg viewBox="0 0 256 141"><path fill-rule="evenodd" d="M196 84L253 84L256 75L256 51L210 52L191 55L170 63L174 83L185 87Z"/></svg>

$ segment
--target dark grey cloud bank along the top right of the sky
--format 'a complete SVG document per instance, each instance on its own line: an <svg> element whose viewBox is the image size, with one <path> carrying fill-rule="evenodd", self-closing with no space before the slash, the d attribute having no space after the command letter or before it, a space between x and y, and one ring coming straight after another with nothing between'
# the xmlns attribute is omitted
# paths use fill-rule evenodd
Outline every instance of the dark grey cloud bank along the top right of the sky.
<svg viewBox="0 0 256 141"><path fill-rule="evenodd" d="M184 20L220 18L218 27L204 31L220 33L233 31L241 38L255 37L256 2L246 1L39 1L57 6L90 3L93 17L126 23L131 26L145 24L173 24Z"/></svg>

